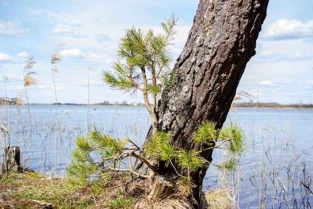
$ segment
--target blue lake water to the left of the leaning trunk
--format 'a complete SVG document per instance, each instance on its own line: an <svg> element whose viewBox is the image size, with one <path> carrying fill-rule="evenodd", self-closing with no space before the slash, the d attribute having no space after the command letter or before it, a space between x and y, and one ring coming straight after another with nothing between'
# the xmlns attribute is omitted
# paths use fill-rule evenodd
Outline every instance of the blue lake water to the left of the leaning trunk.
<svg viewBox="0 0 313 209"><path fill-rule="evenodd" d="M10 121L10 137L6 144L19 146L21 159L27 161L29 147L28 109L26 106L20 109L22 124L16 107L12 106L9 110L9 115L6 115L5 120L3 119L3 111L0 117L0 120ZM49 172L54 169L55 112L55 106L30 106L32 123L30 168L33 170ZM129 136L140 144L150 124L145 107L119 106L89 106L87 121L87 106L59 105L57 106L57 121L56 161L59 174L64 171L66 164L70 161L69 155L71 150L75 148L76 137L85 135L86 130L92 129L93 125L115 137ZM22 132L24 132L23 135ZM1 139L3 141L3 135L1 135ZM2 163L2 149L0 156ZM27 165L27 162L24 164Z"/></svg>

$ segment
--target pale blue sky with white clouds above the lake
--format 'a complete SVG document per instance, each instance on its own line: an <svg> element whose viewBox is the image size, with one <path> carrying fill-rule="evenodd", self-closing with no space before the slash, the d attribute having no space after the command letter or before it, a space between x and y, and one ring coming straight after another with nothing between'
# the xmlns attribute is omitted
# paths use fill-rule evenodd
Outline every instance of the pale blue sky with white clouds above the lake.
<svg viewBox="0 0 313 209"><path fill-rule="evenodd" d="M160 31L163 18L180 17L173 55L178 57L197 9L196 0L0 0L0 97L24 91L23 69L29 57L36 64L37 86L27 87L30 103L55 102L50 57L55 47L63 56L54 74L57 101L127 103L142 101L110 90L101 81L109 70L125 29L132 25ZM257 40L237 91L260 102L313 103L312 0L270 0ZM89 69L89 70L88 70Z"/></svg>

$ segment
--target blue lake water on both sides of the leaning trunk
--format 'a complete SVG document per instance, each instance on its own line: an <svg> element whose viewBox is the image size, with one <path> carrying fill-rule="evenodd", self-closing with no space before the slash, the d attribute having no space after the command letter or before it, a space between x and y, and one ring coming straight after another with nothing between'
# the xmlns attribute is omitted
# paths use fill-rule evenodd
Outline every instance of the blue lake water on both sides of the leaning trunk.
<svg viewBox="0 0 313 209"><path fill-rule="evenodd" d="M54 174L55 112L55 106L30 106L32 137L29 167L51 174ZM304 208L308 203L313 206L313 194L305 188L311 189L313 173L312 118L312 109L237 108L236 113L229 113L225 123L239 122L246 134L246 152L241 156L238 172L233 178L228 176L228 182L216 177L216 173L220 175L218 168L209 166L203 189L221 184L232 188L231 182L234 182L239 192L239 200L236 200L240 208ZM27 165L27 107L23 106L20 110L15 106L2 107L0 125L4 124L2 121L9 121L6 127L10 135L5 144L19 146L21 159ZM89 106L87 115L87 106L58 105L57 121L56 161L59 175L65 173L66 164L70 162L69 155L75 148L76 137L84 135L94 124L115 137L128 136L139 145L150 126L145 107L133 106ZM2 133L0 137L3 146ZM2 149L0 156L2 162ZM214 150L212 163L218 164L223 157L221 150ZM306 203L301 202L302 199Z"/></svg>

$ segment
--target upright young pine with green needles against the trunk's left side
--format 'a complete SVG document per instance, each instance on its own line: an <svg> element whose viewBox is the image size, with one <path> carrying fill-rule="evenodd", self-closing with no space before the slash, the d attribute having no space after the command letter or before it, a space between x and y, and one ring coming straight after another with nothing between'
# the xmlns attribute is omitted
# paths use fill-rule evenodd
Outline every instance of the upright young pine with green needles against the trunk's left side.
<svg viewBox="0 0 313 209"><path fill-rule="evenodd" d="M174 15L165 19L161 24L164 34L154 34L151 29L146 32L135 27L127 29L117 49L120 60L112 66L115 73L102 71L103 80L110 88L130 95L136 94L137 90L142 92L146 109L152 118L153 134L158 130L157 95L171 76L170 64L173 59L169 50L174 45L177 20ZM153 102L149 101L149 95Z"/></svg>

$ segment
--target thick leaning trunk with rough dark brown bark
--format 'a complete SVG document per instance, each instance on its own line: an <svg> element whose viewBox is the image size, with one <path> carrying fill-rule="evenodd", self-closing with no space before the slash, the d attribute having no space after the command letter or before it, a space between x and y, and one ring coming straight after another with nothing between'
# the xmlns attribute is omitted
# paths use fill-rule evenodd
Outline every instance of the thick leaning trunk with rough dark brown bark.
<svg viewBox="0 0 313 209"><path fill-rule="evenodd" d="M266 16L268 0L200 0L186 44L173 68L173 84L163 91L157 116L159 130L172 133L176 148L199 149L192 134L205 121L221 128L239 80ZM151 129L150 129L151 130ZM149 139L149 131L146 140ZM212 150L203 153L211 161ZM137 170L145 167L136 165ZM177 170L185 175L186 170ZM197 208L206 168L192 173ZM177 176L159 162L157 173Z"/></svg>

